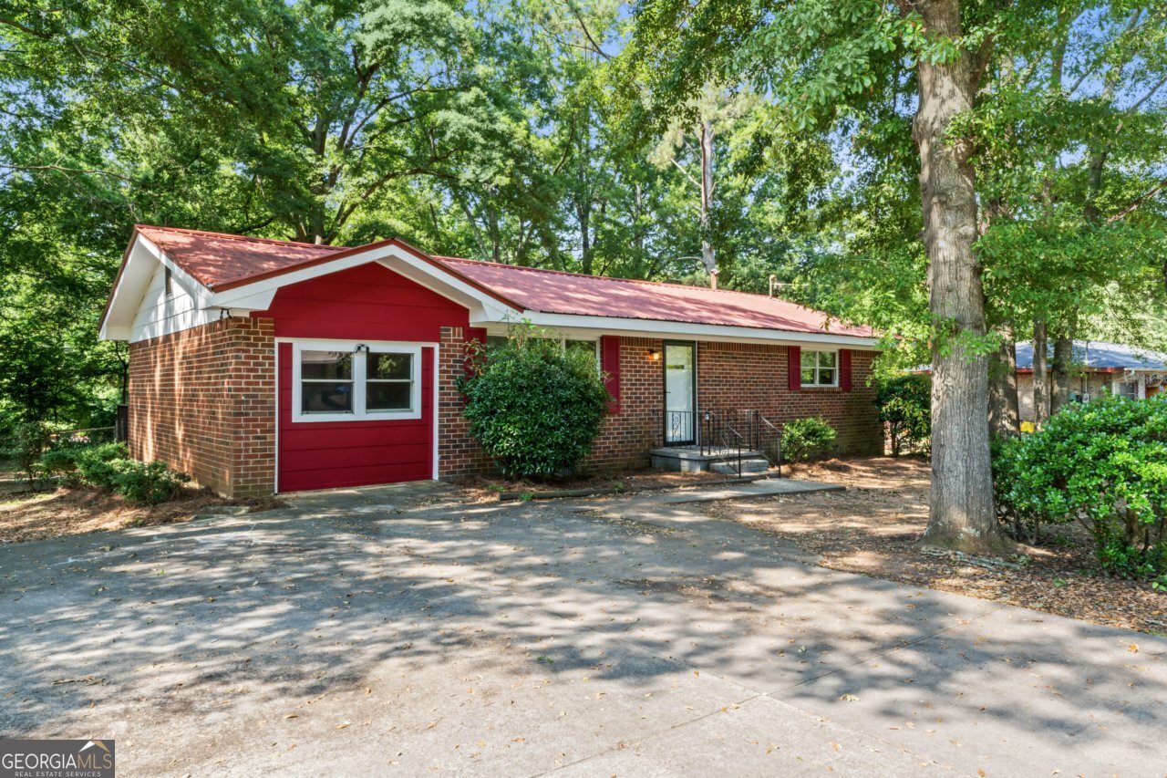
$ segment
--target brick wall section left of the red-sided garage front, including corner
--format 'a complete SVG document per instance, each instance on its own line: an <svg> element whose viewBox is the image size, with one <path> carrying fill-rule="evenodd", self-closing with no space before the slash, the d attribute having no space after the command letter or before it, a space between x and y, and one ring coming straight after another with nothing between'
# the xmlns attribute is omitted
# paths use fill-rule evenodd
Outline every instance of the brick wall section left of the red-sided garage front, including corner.
<svg viewBox="0 0 1167 778"><path fill-rule="evenodd" d="M270 494L275 363L270 319L223 319L130 345L130 445L223 494Z"/></svg>

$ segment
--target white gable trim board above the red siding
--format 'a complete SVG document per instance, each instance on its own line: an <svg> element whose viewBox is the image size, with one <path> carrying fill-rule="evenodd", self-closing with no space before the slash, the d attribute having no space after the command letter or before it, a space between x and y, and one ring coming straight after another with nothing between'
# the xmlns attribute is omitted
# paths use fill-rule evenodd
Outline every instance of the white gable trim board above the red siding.
<svg viewBox="0 0 1167 778"><path fill-rule="evenodd" d="M377 246L333 262L322 262L303 270L293 270L253 284L216 292L211 296L209 304L214 307L265 311L271 307L272 299L281 286L349 270L370 262L377 262L442 297L464 305L470 308L475 318L501 320L506 312L515 313L505 304L467 284L453 273L445 272L397 245Z"/></svg>

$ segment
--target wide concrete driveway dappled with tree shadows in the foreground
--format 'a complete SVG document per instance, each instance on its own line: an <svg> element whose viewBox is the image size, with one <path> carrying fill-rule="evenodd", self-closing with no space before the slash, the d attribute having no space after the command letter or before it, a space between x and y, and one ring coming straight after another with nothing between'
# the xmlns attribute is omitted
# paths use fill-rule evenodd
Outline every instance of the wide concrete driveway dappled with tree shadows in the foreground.
<svg viewBox="0 0 1167 778"><path fill-rule="evenodd" d="M121 774L1167 774L1167 639L661 495L443 487L0 548L0 732Z"/></svg>

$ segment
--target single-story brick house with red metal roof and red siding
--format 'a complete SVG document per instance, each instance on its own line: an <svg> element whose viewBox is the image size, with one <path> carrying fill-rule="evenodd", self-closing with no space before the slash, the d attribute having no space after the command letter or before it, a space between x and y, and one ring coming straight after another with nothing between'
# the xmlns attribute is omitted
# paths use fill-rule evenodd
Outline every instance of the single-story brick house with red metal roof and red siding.
<svg viewBox="0 0 1167 778"><path fill-rule="evenodd" d="M130 446L231 495L488 473L466 342L530 320L594 349L614 397L585 468L692 443L706 409L826 417L881 453L866 327L733 291L139 225L102 319L130 341ZM662 359L663 357L663 359Z"/></svg>

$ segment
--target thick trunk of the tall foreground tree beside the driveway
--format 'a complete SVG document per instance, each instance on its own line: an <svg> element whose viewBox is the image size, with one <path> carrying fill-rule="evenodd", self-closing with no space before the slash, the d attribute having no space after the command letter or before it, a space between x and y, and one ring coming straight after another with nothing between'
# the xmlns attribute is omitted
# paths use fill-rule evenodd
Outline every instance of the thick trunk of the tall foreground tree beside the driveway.
<svg viewBox="0 0 1167 778"><path fill-rule="evenodd" d="M920 2L931 35L960 40L958 0ZM985 335L985 293L972 245L977 192L971 147L946 137L952 118L972 109L973 57L918 63L920 106L911 133L920 150L920 192L928 251L932 339L932 494L922 543L971 551L1008 546L993 506L988 456L988 360L958 335ZM942 343L941 341L946 340Z"/></svg>

